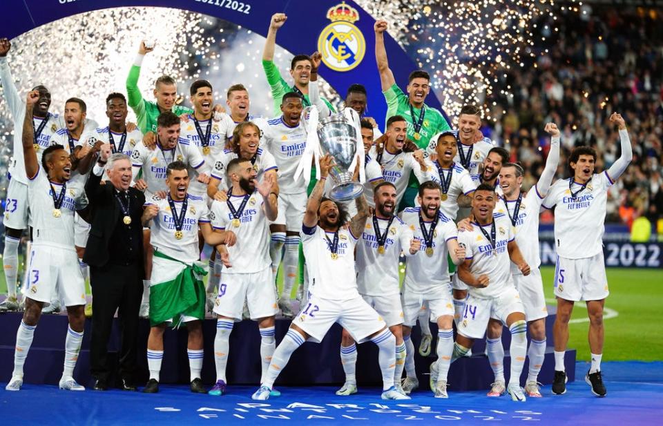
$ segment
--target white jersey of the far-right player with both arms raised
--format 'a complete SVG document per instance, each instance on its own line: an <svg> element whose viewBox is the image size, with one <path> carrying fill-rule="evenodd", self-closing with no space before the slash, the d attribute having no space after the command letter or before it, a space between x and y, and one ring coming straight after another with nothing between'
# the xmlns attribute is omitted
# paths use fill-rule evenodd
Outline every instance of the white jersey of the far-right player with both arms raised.
<svg viewBox="0 0 663 426"><path fill-rule="evenodd" d="M550 186L543 205L546 209L555 207L557 255L568 259L591 258L603 251L608 188L614 182L607 171L593 175L582 191L582 185L572 180L573 177L560 179Z"/></svg>

